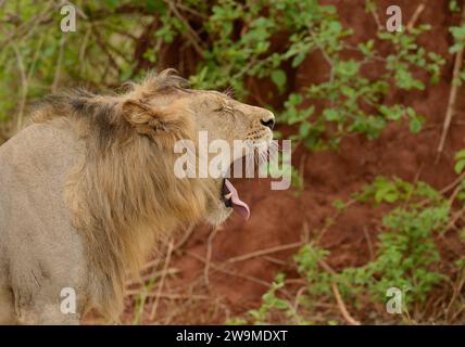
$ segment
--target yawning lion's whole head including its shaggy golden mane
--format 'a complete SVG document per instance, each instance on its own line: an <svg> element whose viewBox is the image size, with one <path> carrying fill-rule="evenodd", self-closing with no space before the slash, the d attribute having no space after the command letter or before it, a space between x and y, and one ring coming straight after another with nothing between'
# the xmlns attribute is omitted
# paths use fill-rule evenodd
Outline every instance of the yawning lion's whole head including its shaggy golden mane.
<svg viewBox="0 0 465 347"><path fill-rule="evenodd" d="M234 141L266 146L275 121L271 112L225 93L189 89L173 69L126 83L120 94L78 90L46 98L33 118L71 127L83 143L65 201L86 241L95 285L90 301L113 318L122 308L127 272L139 270L158 237L202 220L221 223L232 209L249 214L226 170L219 177L178 178L176 143L198 143L206 131L209 142L230 145L229 167L243 155Z"/></svg>

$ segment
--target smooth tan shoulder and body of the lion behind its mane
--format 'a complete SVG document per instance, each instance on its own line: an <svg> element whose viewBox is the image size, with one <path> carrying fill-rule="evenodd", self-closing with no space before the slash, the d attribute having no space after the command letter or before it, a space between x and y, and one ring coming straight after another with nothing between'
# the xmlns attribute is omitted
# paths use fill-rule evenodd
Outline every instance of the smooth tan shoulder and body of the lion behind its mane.
<svg viewBox="0 0 465 347"><path fill-rule="evenodd" d="M0 146L0 292L8 285L27 295L50 274L64 286L67 278L85 277L64 203L66 177L81 153L60 120L34 124Z"/></svg>

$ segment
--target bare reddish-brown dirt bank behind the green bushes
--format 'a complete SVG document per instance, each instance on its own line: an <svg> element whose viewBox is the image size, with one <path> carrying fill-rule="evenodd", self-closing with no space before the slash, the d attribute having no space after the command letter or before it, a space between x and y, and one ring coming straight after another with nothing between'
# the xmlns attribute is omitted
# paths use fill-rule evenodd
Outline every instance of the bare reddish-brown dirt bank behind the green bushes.
<svg viewBox="0 0 465 347"><path fill-rule="evenodd" d="M376 24L373 15L365 12L364 1L326 2L336 4L344 26L354 30L350 40L357 42L374 37ZM391 2L378 1L381 20L386 18L381 10ZM268 180L235 180L241 197L251 207L251 219L244 222L239 216L234 216L219 230L200 227L184 240L180 233L177 242L181 244L174 247L169 261L161 258L156 262L158 271L165 268L168 274L158 282L162 284L161 290L155 286L149 292L140 323L216 324L256 308L275 274L288 269L288 261L298 249L298 243L304 237L312 237L316 230L325 226L326 218L334 214L332 202L336 198L347 200L350 193L369 183L376 176L397 176L409 181L419 179L437 189L447 187L456 178L453 156L457 150L465 147L463 89L460 90L457 112L443 155L437 165L435 157L453 69L452 57L447 54L452 43L448 27L460 22L460 14L448 11L447 0L398 0L404 23L409 23L422 2L426 9L417 24L428 23L432 30L422 36L420 43L448 59L441 81L425 91L404 93L392 90L386 103L405 102L414 106L427 118L424 130L415 136L409 131L407 125L393 124L375 141L355 136L344 139L339 151L310 153L298 150L292 162L302 168L305 180L305 189L300 195L294 190L272 191ZM376 74L377 68L373 66L367 74ZM315 53L297 72L289 74L292 83L290 91L298 91L325 79L328 67L324 59ZM251 81L251 88L253 86L256 81ZM268 82L261 81L260 86L262 90L266 89ZM268 101L265 91L261 92L261 98ZM286 133L288 129L281 127L280 130ZM380 213L370 206L354 206L325 232L321 245L330 250L328 262L331 267L342 269L369 260ZM453 246L441 247L442 253L447 254L451 252L448 247ZM137 313L136 299L139 295L135 293L138 293L136 287L126 299L127 309L123 319L126 323L133 322ZM363 317L360 318L363 321Z"/></svg>

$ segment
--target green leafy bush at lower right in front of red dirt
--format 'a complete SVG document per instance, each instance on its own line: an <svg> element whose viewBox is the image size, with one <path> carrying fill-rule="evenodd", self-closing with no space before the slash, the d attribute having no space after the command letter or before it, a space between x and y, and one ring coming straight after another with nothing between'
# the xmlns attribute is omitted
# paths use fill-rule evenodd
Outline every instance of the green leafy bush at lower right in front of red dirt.
<svg viewBox="0 0 465 347"><path fill-rule="evenodd" d="M334 271L325 262L328 250L314 242L305 244L293 257L296 269L306 283L304 294L296 303L288 294L284 295L289 288L286 275L279 273L263 296L263 305L236 322L338 323L338 318L328 320L334 313L327 313L323 321L311 319L315 317L316 305L328 300L335 285L348 303L354 303L352 310L378 308L377 319L386 316L385 304L390 298L387 291L392 287L402 291L401 318L425 309L433 288L449 279L449 274L439 270L441 258L436 243L451 218L449 201L424 182L413 184L382 177L355 193L354 198L363 204L400 204L382 218L376 258L364 266ZM461 264L462 259L457 259L457 272Z"/></svg>

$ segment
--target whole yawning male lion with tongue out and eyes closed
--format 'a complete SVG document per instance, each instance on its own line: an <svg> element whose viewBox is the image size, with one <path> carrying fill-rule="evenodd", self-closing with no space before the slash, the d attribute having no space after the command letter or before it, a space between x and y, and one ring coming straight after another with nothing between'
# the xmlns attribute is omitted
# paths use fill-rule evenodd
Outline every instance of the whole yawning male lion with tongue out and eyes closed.
<svg viewBox="0 0 465 347"><path fill-rule="evenodd" d="M47 97L30 118L0 146L2 324L79 324L91 309L117 323L125 282L161 237L249 214L226 176L176 177L175 143L199 131L271 143L275 124L267 110L190 89L174 69L118 93Z"/></svg>

